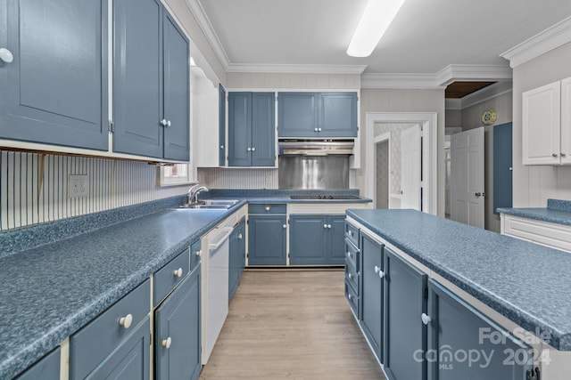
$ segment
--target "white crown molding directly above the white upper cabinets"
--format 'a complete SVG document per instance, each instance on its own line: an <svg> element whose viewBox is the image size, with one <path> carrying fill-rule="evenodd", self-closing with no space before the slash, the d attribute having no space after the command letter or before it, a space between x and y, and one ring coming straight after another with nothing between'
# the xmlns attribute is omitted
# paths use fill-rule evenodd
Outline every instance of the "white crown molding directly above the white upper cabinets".
<svg viewBox="0 0 571 380"><path fill-rule="evenodd" d="M568 42L571 42L571 17L526 39L500 56L508 60L513 69Z"/></svg>

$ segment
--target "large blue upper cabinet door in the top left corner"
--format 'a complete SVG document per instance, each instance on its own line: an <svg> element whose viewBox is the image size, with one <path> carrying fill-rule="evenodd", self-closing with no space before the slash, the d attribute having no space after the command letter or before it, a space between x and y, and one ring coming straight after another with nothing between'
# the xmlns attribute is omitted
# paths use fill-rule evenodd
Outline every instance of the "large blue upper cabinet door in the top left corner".
<svg viewBox="0 0 571 380"><path fill-rule="evenodd" d="M108 149L107 1L4 0L0 138Z"/></svg>

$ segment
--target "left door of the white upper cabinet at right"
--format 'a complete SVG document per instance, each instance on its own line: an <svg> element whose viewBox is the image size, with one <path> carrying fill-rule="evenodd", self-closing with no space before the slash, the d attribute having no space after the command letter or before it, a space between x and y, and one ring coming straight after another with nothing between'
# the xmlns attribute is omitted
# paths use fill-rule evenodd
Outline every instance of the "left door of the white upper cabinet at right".
<svg viewBox="0 0 571 380"><path fill-rule="evenodd" d="M559 82L523 94L522 158L524 165L558 165L560 153Z"/></svg>

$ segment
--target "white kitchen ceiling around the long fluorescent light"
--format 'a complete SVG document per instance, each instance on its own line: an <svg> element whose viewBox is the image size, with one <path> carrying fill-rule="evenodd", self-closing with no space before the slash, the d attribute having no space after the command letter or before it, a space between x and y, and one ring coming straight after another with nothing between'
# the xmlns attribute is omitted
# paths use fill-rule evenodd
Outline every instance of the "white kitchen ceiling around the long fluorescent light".
<svg viewBox="0 0 571 380"><path fill-rule="evenodd" d="M368 74L435 74L451 64L509 67L501 53L571 16L569 0L406 0L377 49L353 58L345 51L366 0L187 1L202 6L210 24L203 29L211 28L229 71L365 65Z"/></svg>

